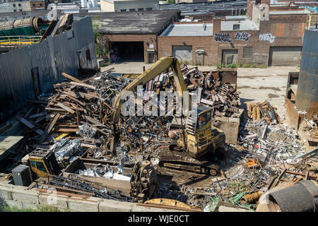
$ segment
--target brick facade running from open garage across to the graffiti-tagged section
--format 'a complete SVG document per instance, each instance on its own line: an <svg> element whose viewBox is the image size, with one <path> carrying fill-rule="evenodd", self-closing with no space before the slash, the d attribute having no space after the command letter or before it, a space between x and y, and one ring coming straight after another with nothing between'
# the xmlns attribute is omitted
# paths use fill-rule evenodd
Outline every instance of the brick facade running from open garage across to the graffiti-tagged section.
<svg viewBox="0 0 318 226"><path fill-rule="evenodd" d="M268 64L270 47L302 46L305 29L305 15L271 15L269 20L260 23L259 30L240 30L247 32L249 39L235 40L237 31L220 31L220 18L213 19L213 36L211 37L157 37L156 35L106 35L110 42L143 42L145 62L148 62L146 49L153 44L155 61L160 57L171 56L172 46L192 46L192 64L196 64L196 50L204 49L204 65L215 65L222 62L224 49L237 49L237 63ZM216 33L229 34L232 44L214 40ZM273 42L259 40L260 35L271 35ZM158 40L158 45L157 45ZM148 44L147 44L148 42ZM184 42L184 43L182 43ZM252 47L252 58L243 58L244 47ZM158 49L157 49L158 48Z"/></svg>

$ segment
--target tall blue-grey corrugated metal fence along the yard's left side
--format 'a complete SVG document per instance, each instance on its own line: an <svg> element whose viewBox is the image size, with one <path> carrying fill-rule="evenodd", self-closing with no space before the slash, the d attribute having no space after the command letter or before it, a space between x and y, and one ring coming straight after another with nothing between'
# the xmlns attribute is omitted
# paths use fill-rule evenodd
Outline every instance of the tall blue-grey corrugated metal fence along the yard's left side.
<svg viewBox="0 0 318 226"><path fill-rule="evenodd" d="M83 68L97 67L90 17L74 22L73 28L61 35L0 54L1 119L24 107L27 99L35 99L33 85L38 79L40 90L49 92L54 83L64 79L62 72L77 76L78 54Z"/></svg>

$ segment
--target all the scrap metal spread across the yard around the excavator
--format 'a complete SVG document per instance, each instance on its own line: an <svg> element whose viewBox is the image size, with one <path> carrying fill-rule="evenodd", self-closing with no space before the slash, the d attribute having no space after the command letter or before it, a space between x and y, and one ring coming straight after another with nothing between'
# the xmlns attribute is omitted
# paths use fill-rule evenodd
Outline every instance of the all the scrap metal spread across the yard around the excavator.
<svg viewBox="0 0 318 226"><path fill-rule="evenodd" d="M220 73L188 69L186 65L181 71L187 89L198 91L199 105L212 107L213 116L231 117L239 112L242 106L236 87L223 82ZM17 119L28 127L25 132L28 149L52 151L59 165L69 164L69 168L78 164L76 161L92 164L73 169L76 176L56 176L47 185L139 203L150 198L171 198L204 211L218 209L218 203L266 211L285 210L277 205L260 207L259 200L268 196L271 189L286 182L317 181L317 151L306 155L297 131L281 123L277 109L268 101L247 103L237 145L226 144L224 157L212 156L220 163L218 177L158 172L160 157L170 151L170 144L182 133L181 126L172 126L173 117L121 116L116 124L119 136L115 139L114 100L133 80L110 71L84 80L66 73L63 76L70 81L54 85L55 91L50 95L29 100L30 106ZM172 90L173 82L170 69L144 84L143 91L158 94ZM313 126L312 121L309 123ZM317 124L314 126L317 128ZM112 191L105 184L88 182L91 177L129 179L129 194L124 196L122 191ZM279 198L275 194L273 197Z"/></svg>

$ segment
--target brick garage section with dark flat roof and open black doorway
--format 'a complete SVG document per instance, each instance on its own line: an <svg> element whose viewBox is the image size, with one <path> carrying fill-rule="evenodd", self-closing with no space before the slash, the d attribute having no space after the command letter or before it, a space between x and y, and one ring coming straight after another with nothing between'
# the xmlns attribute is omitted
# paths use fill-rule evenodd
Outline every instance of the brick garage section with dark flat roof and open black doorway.
<svg viewBox="0 0 318 226"><path fill-rule="evenodd" d="M100 13L94 22L100 25L103 44L112 61L158 60L157 36L177 18L177 11Z"/></svg>

